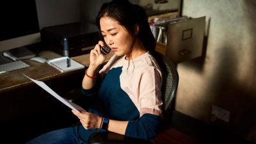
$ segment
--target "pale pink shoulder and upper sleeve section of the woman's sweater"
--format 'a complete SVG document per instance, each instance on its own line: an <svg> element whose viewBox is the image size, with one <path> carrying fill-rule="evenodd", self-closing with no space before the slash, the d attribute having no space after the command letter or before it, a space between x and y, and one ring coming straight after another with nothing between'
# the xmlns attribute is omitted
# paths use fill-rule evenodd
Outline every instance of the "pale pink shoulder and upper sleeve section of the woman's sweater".
<svg viewBox="0 0 256 144"><path fill-rule="evenodd" d="M120 76L120 83L122 90L129 95L140 111L140 116L145 113L162 116L162 76L159 68L149 66L125 71Z"/></svg>

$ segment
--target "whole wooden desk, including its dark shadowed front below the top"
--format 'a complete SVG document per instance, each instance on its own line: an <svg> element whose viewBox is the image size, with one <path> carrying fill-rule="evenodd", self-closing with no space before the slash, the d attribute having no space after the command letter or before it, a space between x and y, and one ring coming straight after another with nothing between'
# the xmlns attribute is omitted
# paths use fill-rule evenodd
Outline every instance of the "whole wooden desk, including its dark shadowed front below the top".
<svg viewBox="0 0 256 144"><path fill-rule="evenodd" d="M112 55L113 53L109 54L106 61ZM39 56L47 59L60 57L59 54L51 51L40 52ZM72 59L88 67L89 58L90 54L84 54ZM24 60L24 62L31 67L0 74L0 123L61 105L58 100L23 76L23 74L33 79L44 81L52 90L63 97L65 97L66 93L81 88L84 69L61 73L47 63L37 63L30 60Z"/></svg>

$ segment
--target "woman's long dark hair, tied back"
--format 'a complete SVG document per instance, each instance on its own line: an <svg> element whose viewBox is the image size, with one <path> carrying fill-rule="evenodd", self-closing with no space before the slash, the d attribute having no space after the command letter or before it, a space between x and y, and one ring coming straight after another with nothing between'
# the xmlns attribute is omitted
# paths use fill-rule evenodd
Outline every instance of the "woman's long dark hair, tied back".
<svg viewBox="0 0 256 144"><path fill-rule="evenodd" d="M100 18L104 16L111 17L118 21L121 26L124 26L124 28L129 31L134 37L134 40L136 40L136 36L138 36L145 49L153 54L156 47L156 40L148 24L147 13L141 6L132 4L128 0L113 0L109 3L102 4L96 17L101 40L103 40L103 36L100 32ZM139 26L137 35L135 30L136 26Z"/></svg>

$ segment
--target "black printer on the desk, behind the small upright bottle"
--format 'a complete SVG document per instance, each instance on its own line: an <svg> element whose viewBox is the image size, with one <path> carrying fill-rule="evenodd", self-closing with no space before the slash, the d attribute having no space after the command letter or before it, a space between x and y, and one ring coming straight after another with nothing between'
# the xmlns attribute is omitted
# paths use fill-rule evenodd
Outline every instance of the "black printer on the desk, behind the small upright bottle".
<svg viewBox="0 0 256 144"><path fill-rule="evenodd" d="M45 49L69 57L87 54L99 42L97 26L86 22L43 28L41 38Z"/></svg>

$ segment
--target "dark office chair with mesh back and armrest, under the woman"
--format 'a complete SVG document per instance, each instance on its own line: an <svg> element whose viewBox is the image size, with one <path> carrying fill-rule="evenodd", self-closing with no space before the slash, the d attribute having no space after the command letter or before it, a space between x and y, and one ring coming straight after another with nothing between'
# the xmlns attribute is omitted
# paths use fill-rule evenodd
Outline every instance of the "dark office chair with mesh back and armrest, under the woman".
<svg viewBox="0 0 256 144"><path fill-rule="evenodd" d="M168 127L170 124L172 101L175 97L178 83L179 74L177 68L172 63L170 58L167 58L163 54L156 52L154 57L162 70L163 84L161 87L162 100L163 100L163 124L161 130ZM88 144L152 144L154 140L141 140L138 138L131 138L122 134L116 134L114 132L95 132L88 140Z"/></svg>

